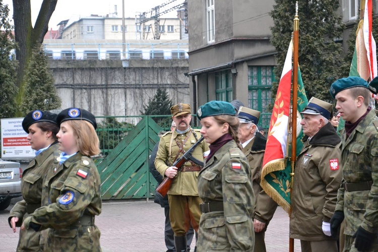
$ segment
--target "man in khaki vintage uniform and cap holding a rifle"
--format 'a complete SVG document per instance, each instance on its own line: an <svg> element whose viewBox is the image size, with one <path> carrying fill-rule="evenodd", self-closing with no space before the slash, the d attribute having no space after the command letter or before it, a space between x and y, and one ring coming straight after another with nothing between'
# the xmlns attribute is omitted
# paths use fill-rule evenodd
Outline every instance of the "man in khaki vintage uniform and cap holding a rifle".
<svg viewBox="0 0 378 252"><path fill-rule="evenodd" d="M202 214L200 210L202 200L198 196L197 177L203 167L188 161L182 166L181 171L178 171L179 167L172 164L201 138L201 134L200 130L192 129L190 126L192 115L189 104L178 103L170 110L172 120L176 123L176 130L160 138L155 167L164 177L175 178L168 191L169 218L174 231L176 251L187 251L186 232L191 224L196 232L198 231ZM203 141L192 155L204 161L205 153L208 151L209 145Z"/></svg>

